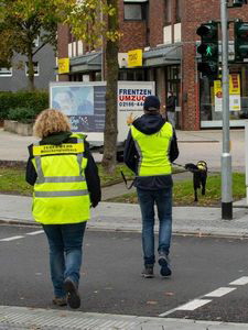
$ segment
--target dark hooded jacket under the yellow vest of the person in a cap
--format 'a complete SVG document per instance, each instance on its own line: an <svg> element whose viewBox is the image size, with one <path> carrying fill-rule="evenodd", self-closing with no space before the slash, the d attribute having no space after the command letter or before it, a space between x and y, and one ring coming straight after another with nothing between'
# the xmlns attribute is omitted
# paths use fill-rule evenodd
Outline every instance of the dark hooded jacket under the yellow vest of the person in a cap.
<svg viewBox="0 0 248 330"><path fill-rule="evenodd" d="M143 114L137 120L133 121L133 127L140 132L151 135L161 130L164 125L165 119L161 114ZM165 156L166 151L164 151ZM174 162L179 156L179 147L175 131L173 130L173 138L170 145L169 158L170 162ZM134 141L131 135L131 131L128 133L128 139L125 144L123 160L126 165L137 175L138 174L138 164L139 164L139 154L136 148ZM158 175L158 176L144 176L136 177L134 186L145 190L157 190L163 189L172 186L172 176L171 175Z"/></svg>

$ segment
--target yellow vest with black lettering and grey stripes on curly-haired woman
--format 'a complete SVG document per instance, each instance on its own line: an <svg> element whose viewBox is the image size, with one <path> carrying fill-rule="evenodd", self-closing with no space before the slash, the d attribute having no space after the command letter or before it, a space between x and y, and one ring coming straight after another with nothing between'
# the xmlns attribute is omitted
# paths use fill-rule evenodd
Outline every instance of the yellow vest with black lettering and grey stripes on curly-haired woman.
<svg viewBox="0 0 248 330"><path fill-rule="evenodd" d="M76 143L33 145L34 184L32 213L43 224L78 223L89 219L89 195L85 179L83 134Z"/></svg>

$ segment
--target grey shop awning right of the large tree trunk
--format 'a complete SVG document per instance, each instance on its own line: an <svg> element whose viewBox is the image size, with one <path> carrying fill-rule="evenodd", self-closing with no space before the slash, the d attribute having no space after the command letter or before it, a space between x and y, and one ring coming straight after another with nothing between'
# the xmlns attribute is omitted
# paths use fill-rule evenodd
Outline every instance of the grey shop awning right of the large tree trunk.
<svg viewBox="0 0 248 330"><path fill-rule="evenodd" d="M182 44L159 46L143 53L143 66L163 66L180 64L182 58Z"/></svg>

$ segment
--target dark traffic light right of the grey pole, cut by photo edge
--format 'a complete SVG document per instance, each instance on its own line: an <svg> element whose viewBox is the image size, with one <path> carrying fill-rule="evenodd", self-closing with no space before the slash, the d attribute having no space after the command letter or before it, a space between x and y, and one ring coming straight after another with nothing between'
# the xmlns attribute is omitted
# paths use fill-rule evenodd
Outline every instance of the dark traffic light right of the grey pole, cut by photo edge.
<svg viewBox="0 0 248 330"><path fill-rule="evenodd" d="M248 58L248 22L235 22L235 61Z"/></svg>

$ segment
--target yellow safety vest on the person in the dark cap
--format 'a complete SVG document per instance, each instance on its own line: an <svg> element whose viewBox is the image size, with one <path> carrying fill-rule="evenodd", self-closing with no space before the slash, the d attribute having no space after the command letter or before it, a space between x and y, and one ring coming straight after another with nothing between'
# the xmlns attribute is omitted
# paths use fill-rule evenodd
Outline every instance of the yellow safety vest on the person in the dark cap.
<svg viewBox="0 0 248 330"><path fill-rule="evenodd" d="M170 175L171 162L169 150L173 136L173 129L165 122L154 134L144 134L131 127L132 139L139 153L138 176Z"/></svg>

